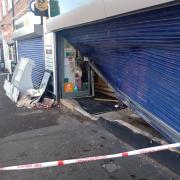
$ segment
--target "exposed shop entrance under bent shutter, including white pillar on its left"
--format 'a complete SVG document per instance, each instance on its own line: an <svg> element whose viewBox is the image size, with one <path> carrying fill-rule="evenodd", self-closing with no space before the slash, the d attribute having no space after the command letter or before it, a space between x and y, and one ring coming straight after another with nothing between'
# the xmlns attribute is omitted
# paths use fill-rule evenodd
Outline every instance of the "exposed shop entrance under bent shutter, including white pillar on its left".
<svg viewBox="0 0 180 180"><path fill-rule="evenodd" d="M56 100L74 99L90 114L116 110L119 101L113 88L96 65L82 56L61 31L45 33L44 43L45 67L53 72Z"/></svg>

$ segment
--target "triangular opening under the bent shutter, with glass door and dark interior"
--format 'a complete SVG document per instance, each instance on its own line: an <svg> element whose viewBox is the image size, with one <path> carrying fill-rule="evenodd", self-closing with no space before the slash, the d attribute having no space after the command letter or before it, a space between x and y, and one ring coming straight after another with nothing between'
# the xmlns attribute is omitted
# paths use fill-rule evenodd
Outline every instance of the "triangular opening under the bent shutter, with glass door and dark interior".
<svg viewBox="0 0 180 180"><path fill-rule="evenodd" d="M60 90L63 99L74 99L90 114L125 108L111 86L88 58L83 57L67 40L61 38ZM62 82L62 83L61 83Z"/></svg>

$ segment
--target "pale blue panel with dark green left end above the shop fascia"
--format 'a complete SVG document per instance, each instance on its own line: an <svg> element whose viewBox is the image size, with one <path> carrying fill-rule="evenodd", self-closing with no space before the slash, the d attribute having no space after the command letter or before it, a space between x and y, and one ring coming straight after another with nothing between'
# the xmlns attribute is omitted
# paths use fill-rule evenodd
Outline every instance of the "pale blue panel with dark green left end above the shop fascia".
<svg viewBox="0 0 180 180"><path fill-rule="evenodd" d="M53 17L64 14L91 1L92 0L50 0L50 15Z"/></svg>

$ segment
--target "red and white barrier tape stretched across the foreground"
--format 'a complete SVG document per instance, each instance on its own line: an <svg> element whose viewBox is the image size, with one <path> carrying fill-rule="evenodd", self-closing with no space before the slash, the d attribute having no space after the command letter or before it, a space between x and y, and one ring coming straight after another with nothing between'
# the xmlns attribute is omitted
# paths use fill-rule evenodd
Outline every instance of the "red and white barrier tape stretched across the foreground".
<svg viewBox="0 0 180 180"><path fill-rule="evenodd" d="M177 148L177 147L180 147L180 143L144 148L144 149L123 152L123 153L118 153L118 154L112 154L112 155L103 155L103 156L86 157L86 158L80 158L80 159L59 160L59 161L52 161L52 162L43 162L43 163L2 167L2 168L0 168L0 171L39 169L39 168L47 168L47 167L55 167L55 166L65 166L65 165L70 165L70 164L86 163L86 162L90 162L90 161L128 157L128 156L134 156L134 155L139 155L139 154L147 154L147 153L163 151L163 150Z"/></svg>

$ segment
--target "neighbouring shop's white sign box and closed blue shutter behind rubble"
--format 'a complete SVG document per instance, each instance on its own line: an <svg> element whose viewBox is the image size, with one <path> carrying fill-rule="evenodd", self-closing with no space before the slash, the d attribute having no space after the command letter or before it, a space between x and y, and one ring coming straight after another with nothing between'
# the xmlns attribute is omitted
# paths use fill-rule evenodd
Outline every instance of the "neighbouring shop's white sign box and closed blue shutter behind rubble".
<svg viewBox="0 0 180 180"><path fill-rule="evenodd" d="M16 41L17 62L23 58L33 62L32 83L38 88L45 70L43 25L40 17L27 12L17 19L13 39Z"/></svg>

